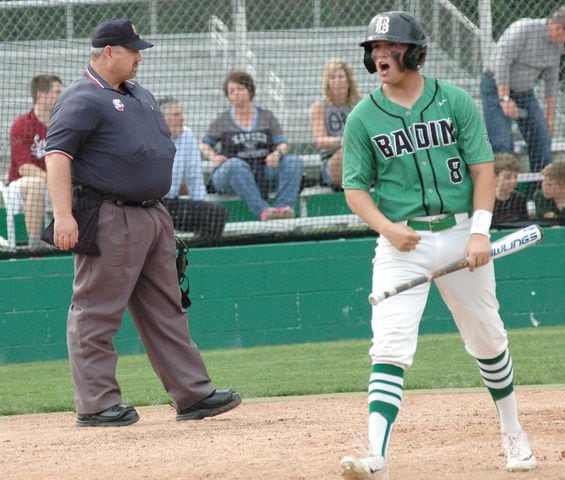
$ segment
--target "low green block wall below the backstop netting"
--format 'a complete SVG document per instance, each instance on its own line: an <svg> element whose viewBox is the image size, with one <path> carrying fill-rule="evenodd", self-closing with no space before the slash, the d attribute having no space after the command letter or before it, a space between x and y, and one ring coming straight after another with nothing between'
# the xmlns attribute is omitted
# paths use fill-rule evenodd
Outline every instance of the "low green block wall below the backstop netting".
<svg viewBox="0 0 565 480"><path fill-rule="evenodd" d="M502 233L493 235L498 238ZM203 248L190 251L192 336L201 349L370 338L367 303L374 239ZM565 324L565 229L496 261L507 328ZM0 364L66 356L70 256L0 261ZM432 293L420 332L455 331ZM121 354L143 352L126 315Z"/></svg>

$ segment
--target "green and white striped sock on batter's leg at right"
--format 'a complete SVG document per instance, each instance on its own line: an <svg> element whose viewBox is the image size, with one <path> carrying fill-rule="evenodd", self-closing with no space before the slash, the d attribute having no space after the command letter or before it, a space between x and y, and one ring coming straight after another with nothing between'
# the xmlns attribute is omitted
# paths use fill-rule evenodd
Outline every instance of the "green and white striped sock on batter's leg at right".
<svg viewBox="0 0 565 480"><path fill-rule="evenodd" d="M500 429L503 433L517 433L522 430L518 420L518 404L514 393L514 371L512 357L506 349L491 359L477 359L481 377L488 388L498 411Z"/></svg>

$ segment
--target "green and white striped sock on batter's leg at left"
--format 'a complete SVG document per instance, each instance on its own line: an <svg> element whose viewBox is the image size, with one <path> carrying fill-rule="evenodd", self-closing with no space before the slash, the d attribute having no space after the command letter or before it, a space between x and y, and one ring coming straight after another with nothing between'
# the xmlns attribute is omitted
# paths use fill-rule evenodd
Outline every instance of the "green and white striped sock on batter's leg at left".
<svg viewBox="0 0 565 480"><path fill-rule="evenodd" d="M396 365L376 363L369 379L369 443L373 455L386 457L392 425L396 420L404 370Z"/></svg>

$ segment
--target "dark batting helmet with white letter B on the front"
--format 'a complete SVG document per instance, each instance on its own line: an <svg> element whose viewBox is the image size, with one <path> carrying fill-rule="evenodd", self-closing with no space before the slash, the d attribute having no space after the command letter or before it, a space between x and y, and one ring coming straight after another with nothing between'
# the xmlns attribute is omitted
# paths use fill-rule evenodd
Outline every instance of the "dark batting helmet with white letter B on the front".
<svg viewBox="0 0 565 480"><path fill-rule="evenodd" d="M359 45L365 49L363 63L369 73L375 73L377 66L371 57L373 42L384 40L410 45L404 54L404 65L410 70L419 70L426 60L428 42L422 24L409 13L392 11L373 17L367 30L367 38Z"/></svg>

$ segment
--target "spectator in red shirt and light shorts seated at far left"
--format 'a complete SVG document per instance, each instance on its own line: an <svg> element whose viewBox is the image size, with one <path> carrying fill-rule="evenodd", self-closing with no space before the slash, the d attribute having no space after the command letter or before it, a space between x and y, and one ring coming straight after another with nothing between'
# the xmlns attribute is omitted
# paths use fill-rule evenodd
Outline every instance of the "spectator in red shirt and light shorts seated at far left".
<svg viewBox="0 0 565 480"><path fill-rule="evenodd" d="M45 138L51 110L63 82L56 75L36 75L30 83L33 108L20 115L10 128L11 163L8 176L12 201L23 205L30 250L41 245L45 211Z"/></svg>

